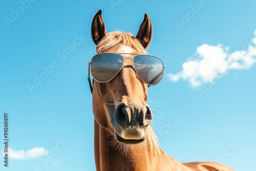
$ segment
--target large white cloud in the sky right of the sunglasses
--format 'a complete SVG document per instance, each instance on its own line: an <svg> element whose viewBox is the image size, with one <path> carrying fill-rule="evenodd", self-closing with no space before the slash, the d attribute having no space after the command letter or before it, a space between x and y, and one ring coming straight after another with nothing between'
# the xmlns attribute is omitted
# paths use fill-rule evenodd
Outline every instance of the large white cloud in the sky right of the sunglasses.
<svg viewBox="0 0 256 171"><path fill-rule="evenodd" d="M228 70L249 69L256 63L256 30L252 45L248 41L244 50L228 53L229 48L219 44L217 46L201 45L196 54L189 57L182 65L182 70L176 74L167 74L170 80L188 80L192 87L197 88L204 82L210 82L218 74L225 74ZM247 48L247 49L246 49Z"/></svg>

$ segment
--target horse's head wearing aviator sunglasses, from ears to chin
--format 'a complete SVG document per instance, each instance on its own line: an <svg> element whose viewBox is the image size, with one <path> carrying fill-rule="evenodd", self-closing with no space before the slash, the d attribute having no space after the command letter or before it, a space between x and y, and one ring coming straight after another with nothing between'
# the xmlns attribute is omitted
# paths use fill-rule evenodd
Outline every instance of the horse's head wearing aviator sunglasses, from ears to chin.
<svg viewBox="0 0 256 171"><path fill-rule="evenodd" d="M160 82L164 69L161 59L145 50L152 38L151 20L145 14L136 36L119 31L107 34L99 10L91 32L97 51L89 62L95 120L118 142L142 142L153 119L147 104L148 87Z"/></svg>

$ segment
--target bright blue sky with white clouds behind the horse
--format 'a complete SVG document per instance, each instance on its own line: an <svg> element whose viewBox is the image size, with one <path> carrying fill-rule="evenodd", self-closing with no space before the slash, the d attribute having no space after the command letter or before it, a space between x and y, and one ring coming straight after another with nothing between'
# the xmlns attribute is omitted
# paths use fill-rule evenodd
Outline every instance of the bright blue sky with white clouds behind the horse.
<svg viewBox="0 0 256 171"><path fill-rule="evenodd" d="M12 154L9 168L1 162L0 169L95 170L87 69L95 54L91 20L102 9L108 32L136 35L144 13L152 20L147 51L166 69L162 82L150 87L148 103L163 150L180 162L219 161L252 170L255 6L217 0L2 1L0 127L8 113Z"/></svg>

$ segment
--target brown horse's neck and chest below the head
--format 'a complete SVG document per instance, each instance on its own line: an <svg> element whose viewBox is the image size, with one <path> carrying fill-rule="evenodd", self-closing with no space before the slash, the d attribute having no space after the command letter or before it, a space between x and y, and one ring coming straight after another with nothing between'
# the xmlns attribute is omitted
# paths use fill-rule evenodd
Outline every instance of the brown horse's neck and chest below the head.
<svg viewBox="0 0 256 171"><path fill-rule="evenodd" d="M151 127L147 138L134 145L120 144L108 130L94 120L94 155L96 169L115 170L159 170L177 169L181 163L167 156L158 146ZM182 166L181 166L182 167Z"/></svg>

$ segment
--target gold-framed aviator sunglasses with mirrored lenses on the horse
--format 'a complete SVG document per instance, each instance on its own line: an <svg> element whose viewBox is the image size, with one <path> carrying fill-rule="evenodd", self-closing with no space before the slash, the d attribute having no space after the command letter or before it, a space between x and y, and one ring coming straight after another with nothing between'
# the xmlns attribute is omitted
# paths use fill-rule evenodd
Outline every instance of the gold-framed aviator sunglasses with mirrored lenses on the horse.
<svg viewBox="0 0 256 171"><path fill-rule="evenodd" d="M135 56L131 58L122 55ZM136 53L99 53L89 60L88 81L91 92L93 86L90 79L90 70L95 81L108 82L123 69L123 63L128 58L133 61L134 71L148 87L154 86L162 80L165 66L163 61L156 56Z"/></svg>

